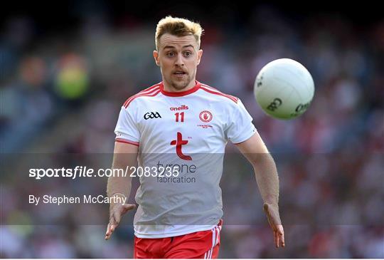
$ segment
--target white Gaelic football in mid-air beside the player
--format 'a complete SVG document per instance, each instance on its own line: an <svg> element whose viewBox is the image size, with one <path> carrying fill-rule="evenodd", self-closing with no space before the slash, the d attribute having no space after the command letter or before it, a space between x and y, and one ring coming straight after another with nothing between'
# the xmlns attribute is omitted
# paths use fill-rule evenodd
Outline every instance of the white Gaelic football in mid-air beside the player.
<svg viewBox="0 0 384 260"><path fill-rule="evenodd" d="M254 93L267 115L288 120L302 115L311 104L314 80L302 64L280 58L257 74Z"/></svg>

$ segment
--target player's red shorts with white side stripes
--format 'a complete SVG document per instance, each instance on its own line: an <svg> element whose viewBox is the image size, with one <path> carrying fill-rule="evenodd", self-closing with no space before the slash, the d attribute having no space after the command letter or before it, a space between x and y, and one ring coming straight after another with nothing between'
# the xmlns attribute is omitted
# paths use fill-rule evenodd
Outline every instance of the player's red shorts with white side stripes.
<svg viewBox="0 0 384 260"><path fill-rule="evenodd" d="M218 258L223 219L210 230L161 239L134 236L135 259L212 259Z"/></svg>

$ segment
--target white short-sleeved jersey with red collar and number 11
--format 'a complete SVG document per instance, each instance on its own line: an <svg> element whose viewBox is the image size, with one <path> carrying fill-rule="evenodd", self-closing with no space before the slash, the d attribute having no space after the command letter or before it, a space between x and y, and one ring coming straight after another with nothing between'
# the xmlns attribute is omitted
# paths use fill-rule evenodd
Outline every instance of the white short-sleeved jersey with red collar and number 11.
<svg viewBox="0 0 384 260"><path fill-rule="evenodd" d="M238 98L198 81L177 93L159 83L129 98L115 133L117 142L139 146L139 167L146 167L146 176L137 170L135 235L161 238L215 227L223 217L225 145L255 132Z"/></svg>

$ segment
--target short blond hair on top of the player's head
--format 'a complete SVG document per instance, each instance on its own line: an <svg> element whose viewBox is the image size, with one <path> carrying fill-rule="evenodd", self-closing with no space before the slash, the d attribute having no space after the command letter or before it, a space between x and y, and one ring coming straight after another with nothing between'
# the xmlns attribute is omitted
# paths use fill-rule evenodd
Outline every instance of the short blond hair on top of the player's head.
<svg viewBox="0 0 384 260"><path fill-rule="evenodd" d="M201 28L201 25L198 23L195 23L188 19L166 16L166 18L161 19L156 26L156 50L159 50L158 46L160 37L165 33L169 33L178 37L193 35L195 36L196 41L198 43L198 48L200 48L200 38L203 34L203 31L203 28Z"/></svg>

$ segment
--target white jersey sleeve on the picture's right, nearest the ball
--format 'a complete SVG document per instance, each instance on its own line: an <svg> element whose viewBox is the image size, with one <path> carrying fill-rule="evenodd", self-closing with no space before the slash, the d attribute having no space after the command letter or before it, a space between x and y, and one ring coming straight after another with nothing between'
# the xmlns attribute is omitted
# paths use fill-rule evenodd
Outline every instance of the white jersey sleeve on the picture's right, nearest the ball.
<svg viewBox="0 0 384 260"><path fill-rule="evenodd" d="M230 112L228 120L228 128L225 133L227 139L234 144L244 142L256 132L255 125L252 124L253 119L250 116L250 113L245 109L244 105L242 105L240 99Z"/></svg>

